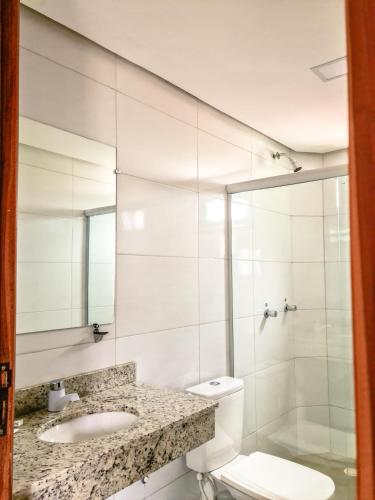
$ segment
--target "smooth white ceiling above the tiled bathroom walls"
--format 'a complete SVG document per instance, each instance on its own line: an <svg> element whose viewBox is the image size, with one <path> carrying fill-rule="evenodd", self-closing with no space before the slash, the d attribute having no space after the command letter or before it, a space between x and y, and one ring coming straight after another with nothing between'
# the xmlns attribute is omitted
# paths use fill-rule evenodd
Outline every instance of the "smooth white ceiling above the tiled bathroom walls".
<svg viewBox="0 0 375 500"><path fill-rule="evenodd" d="M344 0L22 0L297 151L347 147Z"/></svg>

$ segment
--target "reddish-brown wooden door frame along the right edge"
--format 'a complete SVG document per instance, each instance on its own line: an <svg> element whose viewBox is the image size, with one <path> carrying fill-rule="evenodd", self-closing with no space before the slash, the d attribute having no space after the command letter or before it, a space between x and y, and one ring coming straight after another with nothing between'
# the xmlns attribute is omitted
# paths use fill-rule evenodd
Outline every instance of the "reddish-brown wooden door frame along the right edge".
<svg viewBox="0 0 375 500"><path fill-rule="evenodd" d="M375 498L375 2L346 0L357 492Z"/></svg>

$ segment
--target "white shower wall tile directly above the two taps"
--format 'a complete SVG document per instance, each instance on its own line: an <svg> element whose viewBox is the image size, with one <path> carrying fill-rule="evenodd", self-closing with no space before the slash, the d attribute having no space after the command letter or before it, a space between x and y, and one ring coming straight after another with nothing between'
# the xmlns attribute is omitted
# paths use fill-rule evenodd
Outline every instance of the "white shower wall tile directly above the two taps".
<svg viewBox="0 0 375 500"><path fill-rule="evenodd" d="M290 263L254 261L255 313L263 314L267 307L281 312L285 299L289 304L294 304L291 280Z"/></svg>

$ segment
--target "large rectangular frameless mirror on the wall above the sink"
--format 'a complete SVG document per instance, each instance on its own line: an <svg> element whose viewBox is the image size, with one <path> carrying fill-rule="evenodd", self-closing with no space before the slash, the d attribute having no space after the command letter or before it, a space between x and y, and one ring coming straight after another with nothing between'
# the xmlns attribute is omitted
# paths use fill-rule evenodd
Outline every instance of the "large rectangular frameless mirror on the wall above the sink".
<svg viewBox="0 0 375 500"><path fill-rule="evenodd" d="M111 323L116 149L20 117L17 334Z"/></svg>

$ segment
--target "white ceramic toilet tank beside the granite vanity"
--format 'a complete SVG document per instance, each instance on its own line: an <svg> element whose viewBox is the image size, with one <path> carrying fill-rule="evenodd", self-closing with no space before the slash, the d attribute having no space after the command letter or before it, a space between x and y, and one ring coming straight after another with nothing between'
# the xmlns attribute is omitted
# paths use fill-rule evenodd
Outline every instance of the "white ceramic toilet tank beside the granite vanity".
<svg viewBox="0 0 375 500"><path fill-rule="evenodd" d="M187 466L197 472L210 472L235 458L241 449L243 381L232 377L219 377L186 389L204 398L215 399L219 406L215 412L215 437L186 455Z"/></svg>

